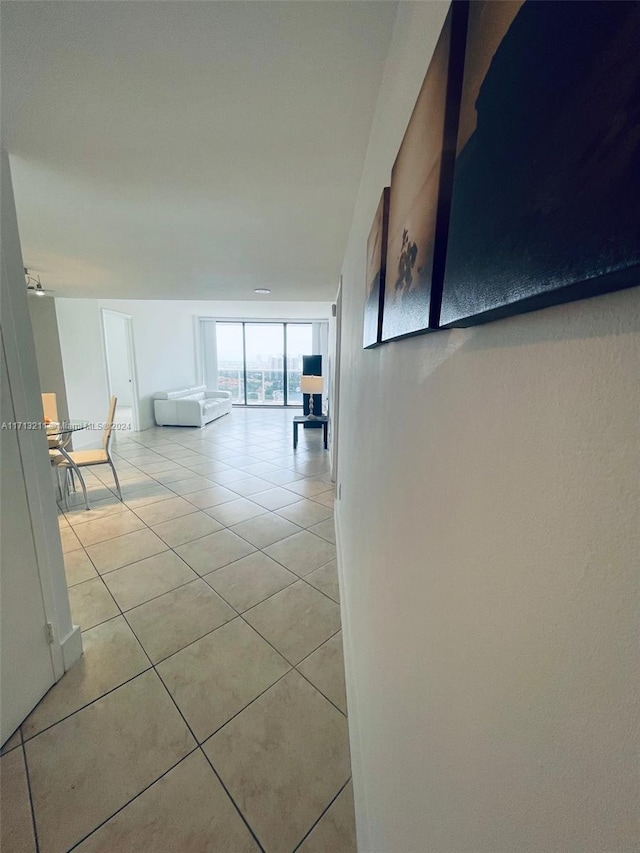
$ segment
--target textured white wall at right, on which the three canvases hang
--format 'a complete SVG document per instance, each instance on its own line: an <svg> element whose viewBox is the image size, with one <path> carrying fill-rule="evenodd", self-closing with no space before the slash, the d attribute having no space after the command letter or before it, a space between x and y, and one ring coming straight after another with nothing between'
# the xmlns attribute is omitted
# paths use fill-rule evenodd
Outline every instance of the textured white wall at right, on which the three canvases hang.
<svg viewBox="0 0 640 853"><path fill-rule="evenodd" d="M359 849L632 853L640 289L361 347L367 234L446 11L400 4L343 268Z"/></svg>

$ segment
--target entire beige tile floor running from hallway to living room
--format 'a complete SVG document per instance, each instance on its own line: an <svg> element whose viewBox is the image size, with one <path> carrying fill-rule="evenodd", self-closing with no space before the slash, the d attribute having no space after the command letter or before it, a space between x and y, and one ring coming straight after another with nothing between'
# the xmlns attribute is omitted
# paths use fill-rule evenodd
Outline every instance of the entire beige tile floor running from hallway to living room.
<svg viewBox="0 0 640 853"><path fill-rule="evenodd" d="M3 853L353 853L322 430L119 435L60 515L84 656L7 742Z"/></svg>

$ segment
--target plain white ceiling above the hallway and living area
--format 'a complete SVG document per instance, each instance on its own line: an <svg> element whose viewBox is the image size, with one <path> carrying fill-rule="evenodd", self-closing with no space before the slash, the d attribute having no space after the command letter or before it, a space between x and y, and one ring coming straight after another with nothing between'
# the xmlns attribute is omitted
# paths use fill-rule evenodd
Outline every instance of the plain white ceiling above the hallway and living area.
<svg viewBox="0 0 640 853"><path fill-rule="evenodd" d="M25 264L59 296L330 300L395 2L2 2Z"/></svg>

